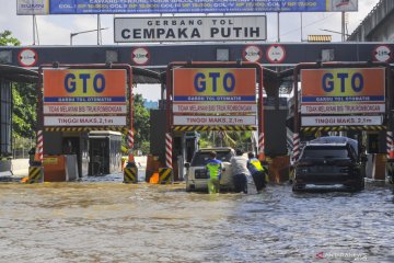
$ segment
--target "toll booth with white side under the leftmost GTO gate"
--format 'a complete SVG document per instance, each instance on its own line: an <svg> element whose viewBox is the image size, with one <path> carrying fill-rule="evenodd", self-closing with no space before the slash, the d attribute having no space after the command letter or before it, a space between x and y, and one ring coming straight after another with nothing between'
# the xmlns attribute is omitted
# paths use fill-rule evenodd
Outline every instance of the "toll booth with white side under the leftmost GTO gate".
<svg viewBox="0 0 394 263"><path fill-rule="evenodd" d="M121 134L111 130L89 133L89 175L121 172Z"/></svg>

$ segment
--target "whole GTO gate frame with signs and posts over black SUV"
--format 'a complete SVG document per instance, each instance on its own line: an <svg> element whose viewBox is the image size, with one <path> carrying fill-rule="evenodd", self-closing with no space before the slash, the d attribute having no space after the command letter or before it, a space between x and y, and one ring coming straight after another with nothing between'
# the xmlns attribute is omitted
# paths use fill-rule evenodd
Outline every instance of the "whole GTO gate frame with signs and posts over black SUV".
<svg viewBox="0 0 394 263"><path fill-rule="evenodd" d="M301 140L308 140L308 134L312 137L340 134L357 139L359 151L370 153L367 175L384 180L384 164L394 157L390 156L393 149L390 65L300 64L293 70L293 160L300 157Z"/></svg>

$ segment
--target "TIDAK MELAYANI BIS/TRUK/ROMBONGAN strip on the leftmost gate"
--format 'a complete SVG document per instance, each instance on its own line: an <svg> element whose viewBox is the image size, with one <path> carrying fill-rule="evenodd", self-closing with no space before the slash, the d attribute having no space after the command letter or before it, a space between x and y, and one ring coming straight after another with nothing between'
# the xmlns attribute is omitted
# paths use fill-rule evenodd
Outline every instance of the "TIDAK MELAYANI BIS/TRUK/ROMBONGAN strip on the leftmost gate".
<svg viewBox="0 0 394 263"><path fill-rule="evenodd" d="M44 105L44 114L126 114L126 105Z"/></svg>

